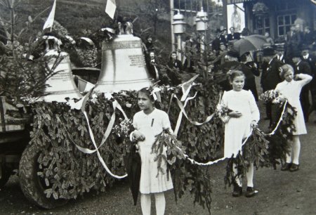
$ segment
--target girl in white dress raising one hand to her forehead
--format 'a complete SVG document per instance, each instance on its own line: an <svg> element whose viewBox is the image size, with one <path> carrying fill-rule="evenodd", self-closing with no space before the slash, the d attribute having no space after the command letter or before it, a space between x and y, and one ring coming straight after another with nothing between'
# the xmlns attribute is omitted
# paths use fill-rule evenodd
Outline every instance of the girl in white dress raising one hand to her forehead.
<svg viewBox="0 0 316 215"><path fill-rule="evenodd" d="M302 87L308 84L312 80L312 77L308 74L296 74L294 77L294 69L288 64L281 67L280 76L284 81L277 84L275 89L279 91L297 111L297 115L294 119L296 131L293 133L293 140L289 154L287 154L286 164L282 166L281 170L298 171L298 159L301 150L299 135L307 133L300 103L300 93Z"/></svg>

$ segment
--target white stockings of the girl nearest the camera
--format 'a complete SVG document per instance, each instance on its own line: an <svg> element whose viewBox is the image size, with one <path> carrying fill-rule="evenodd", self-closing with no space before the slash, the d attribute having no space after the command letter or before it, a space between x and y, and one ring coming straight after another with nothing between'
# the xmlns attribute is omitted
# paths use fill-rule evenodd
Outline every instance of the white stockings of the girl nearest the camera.
<svg viewBox="0 0 316 215"><path fill-rule="evenodd" d="M142 208L143 215L150 215L151 208L151 194L140 194L140 206ZM164 193L154 193L154 199L156 202L156 214L164 215L164 209L166 208L166 200L164 199Z"/></svg>

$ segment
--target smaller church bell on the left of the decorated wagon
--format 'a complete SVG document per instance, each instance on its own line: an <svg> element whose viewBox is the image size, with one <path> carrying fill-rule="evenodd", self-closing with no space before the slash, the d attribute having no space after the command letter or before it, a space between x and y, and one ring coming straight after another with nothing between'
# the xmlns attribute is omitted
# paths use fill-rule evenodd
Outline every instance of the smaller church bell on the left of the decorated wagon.
<svg viewBox="0 0 316 215"><path fill-rule="evenodd" d="M46 37L45 56L50 58L50 60L48 60L48 67L53 67L53 62L55 61L55 58L57 58L58 54L60 54L62 60L54 70L54 72L58 73L54 74L46 81L48 86L46 86L45 94L48 95L42 96L39 100L44 100L46 102L66 102L67 100L65 98L82 98L76 84L74 84L74 79L72 78L70 57L68 53L63 51L58 53L58 47L61 42L57 38L52 36L44 37Z"/></svg>

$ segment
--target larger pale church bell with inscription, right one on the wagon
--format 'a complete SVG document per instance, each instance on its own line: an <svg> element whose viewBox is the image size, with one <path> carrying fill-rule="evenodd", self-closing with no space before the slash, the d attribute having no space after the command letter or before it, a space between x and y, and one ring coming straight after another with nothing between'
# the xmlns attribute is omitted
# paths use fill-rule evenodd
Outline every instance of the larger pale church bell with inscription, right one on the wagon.
<svg viewBox="0 0 316 215"><path fill-rule="evenodd" d="M113 41L103 41L101 72L94 91L131 91L150 86L142 41L124 33Z"/></svg>

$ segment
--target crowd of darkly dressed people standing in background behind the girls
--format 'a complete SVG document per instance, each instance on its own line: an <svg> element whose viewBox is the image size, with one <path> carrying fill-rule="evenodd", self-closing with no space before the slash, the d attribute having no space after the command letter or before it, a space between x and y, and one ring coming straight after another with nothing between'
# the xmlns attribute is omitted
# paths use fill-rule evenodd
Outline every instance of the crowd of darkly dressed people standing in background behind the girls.
<svg viewBox="0 0 316 215"><path fill-rule="evenodd" d="M282 82L279 67L284 64L291 65L294 68L294 74L310 74L313 77L312 82L303 87L300 96L304 119L308 122L310 113L316 109L316 56L312 54L315 49L315 36L310 31L310 27L306 26L301 32L299 25L293 25L287 32L286 41L282 44L275 44L270 34L265 32L266 43L261 51L249 51L243 53L242 56L234 50L233 44L245 37L243 34L235 32L235 27L230 27L230 34L225 28L217 32L218 35L211 42L209 52L212 71L227 73L229 70L241 70L244 72L246 78L244 89L250 90L256 101L258 101L258 92L255 77L261 76L260 84L265 92L275 89L277 84ZM178 60L176 51L170 53L166 70L158 66L152 37L147 37L144 44L147 69L150 76L155 80L160 80L161 84L176 86L183 81L181 74L195 72L194 56L201 52L199 39L195 34L185 40L182 61ZM231 89L228 80L221 85L225 91ZM270 119L270 125L272 124L270 103L266 104L265 119Z"/></svg>

